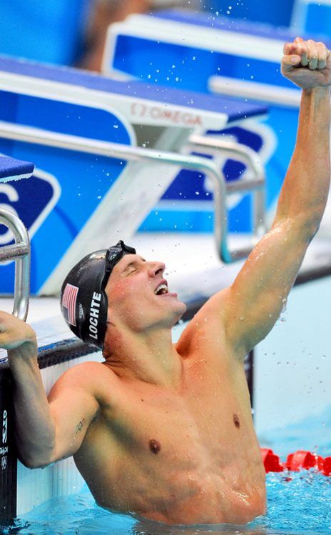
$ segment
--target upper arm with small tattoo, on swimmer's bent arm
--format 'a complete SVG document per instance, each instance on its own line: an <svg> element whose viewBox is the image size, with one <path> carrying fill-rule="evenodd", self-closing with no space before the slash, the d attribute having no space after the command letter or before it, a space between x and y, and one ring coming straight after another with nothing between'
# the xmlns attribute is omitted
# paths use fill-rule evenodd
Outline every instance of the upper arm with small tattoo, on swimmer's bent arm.
<svg viewBox="0 0 331 535"><path fill-rule="evenodd" d="M51 389L49 407L55 425L54 462L78 451L98 412L98 401L86 381L67 373Z"/></svg>

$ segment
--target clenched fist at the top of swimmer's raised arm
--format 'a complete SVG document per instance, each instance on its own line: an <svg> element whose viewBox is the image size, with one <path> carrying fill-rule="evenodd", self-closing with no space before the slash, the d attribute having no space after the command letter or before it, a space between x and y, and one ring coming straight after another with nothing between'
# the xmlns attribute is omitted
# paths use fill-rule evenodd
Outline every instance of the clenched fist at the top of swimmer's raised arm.
<svg viewBox="0 0 331 535"><path fill-rule="evenodd" d="M331 53L325 44L297 37L284 46L282 74L302 89L331 85Z"/></svg>

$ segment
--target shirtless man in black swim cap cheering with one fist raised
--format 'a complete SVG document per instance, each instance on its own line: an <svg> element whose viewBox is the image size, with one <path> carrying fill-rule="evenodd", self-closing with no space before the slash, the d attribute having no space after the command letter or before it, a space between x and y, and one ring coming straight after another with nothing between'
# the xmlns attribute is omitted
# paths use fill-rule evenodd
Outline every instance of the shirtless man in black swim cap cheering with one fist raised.
<svg viewBox="0 0 331 535"><path fill-rule="evenodd" d="M21 460L34 468L73 455L106 508L165 524L245 524L265 513L265 471L243 362L280 315L330 181L330 52L301 39L284 51L282 74L303 91L297 145L273 227L233 285L200 309L177 344L171 328L185 304L168 291L164 264L121 244L90 255L91 269L88 263L73 269L71 277L87 277L86 291L94 280L101 288L93 290L88 309L83 279L78 296L70 296L68 281L74 291L76 279L69 276L62 296L73 330L103 344L106 361L66 371L49 401L34 331L10 314L0 316L0 346L9 350L16 385ZM98 259L103 267L94 273Z"/></svg>

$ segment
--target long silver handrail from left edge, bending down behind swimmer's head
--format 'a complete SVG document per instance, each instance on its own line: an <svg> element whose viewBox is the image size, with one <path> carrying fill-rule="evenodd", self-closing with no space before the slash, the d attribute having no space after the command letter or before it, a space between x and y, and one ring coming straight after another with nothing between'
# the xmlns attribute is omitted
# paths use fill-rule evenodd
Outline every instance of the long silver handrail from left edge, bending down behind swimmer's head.
<svg viewBox="0 0 331 535"><path fill-rule="evenodd" d="M172 152L143 149L141 147L121 145L109 141L98 141L80 136L54 134L47 130L7 123L5 121L0 121L0 137L88 154L98 154L99 156L111 156L116 159L138 162L153 161L163 165L175 165L184 169L200 171L206 174L213 181L214 185L214 235L220 259L226 264L242 259L250 254L250 251L255 245L253 243L242 249L230 251L228 246L228 217L225 204L227 186L223 174L221 174L221 171L213 161L200 156L183 156ZM253 184L251 184L250 190L255 187L260 188L261 185L258 184L253 187Z"/></svg>

